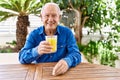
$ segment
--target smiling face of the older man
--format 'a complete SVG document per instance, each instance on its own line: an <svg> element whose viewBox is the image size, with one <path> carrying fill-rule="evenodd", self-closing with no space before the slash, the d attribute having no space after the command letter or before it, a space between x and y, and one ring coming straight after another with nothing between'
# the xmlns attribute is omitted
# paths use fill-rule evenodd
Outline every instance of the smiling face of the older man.
<svg viewBox="0 0 120 80"><path fill-rule="evenodd" d="M60 20L58 9L51 5L46 6L43 10L43 13L41 14L41 20L45 26L46 30L54 30L56 29L58 22Z"/></svg>

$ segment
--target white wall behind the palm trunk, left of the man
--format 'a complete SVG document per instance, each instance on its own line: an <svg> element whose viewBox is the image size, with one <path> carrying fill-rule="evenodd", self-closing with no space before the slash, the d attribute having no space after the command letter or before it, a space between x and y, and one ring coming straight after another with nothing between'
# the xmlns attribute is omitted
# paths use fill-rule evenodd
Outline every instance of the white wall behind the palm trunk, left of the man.
<svg viewBox="0 0 120 80"><path fill-rule="evenodd" d="M9 18L5 21L0 22L0 46L5 45L6 42L12 42L16 40L16 21L17 17ZM30 27L29 31L42 25L40 17L30 15L29 16Z"/></svg>

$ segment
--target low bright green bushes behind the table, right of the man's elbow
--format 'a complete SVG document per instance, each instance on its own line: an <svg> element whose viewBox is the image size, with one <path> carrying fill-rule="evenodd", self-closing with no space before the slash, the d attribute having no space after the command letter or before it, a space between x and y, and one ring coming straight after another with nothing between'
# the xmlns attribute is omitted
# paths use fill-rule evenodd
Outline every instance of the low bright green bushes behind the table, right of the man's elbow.
<svg viewBox="0 0 120 80"><path fill-rule="evenodd" d="M90 63L97 58L100 64L115 66L118 56L113 51L111 43L106 41L90 41L87 45L78 44L79 49Z"/></svg>

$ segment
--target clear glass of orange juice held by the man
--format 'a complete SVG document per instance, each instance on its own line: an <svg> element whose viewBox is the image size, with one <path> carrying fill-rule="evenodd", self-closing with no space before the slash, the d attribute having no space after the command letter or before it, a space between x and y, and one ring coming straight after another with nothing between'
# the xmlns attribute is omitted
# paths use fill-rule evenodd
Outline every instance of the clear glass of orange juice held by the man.
<svg viewBox="0 0 120 80"><path fill-rule="evenodd" d="M46 38L46 41L48 41L50 45L53 47L52 52L56 52L57 51L57 35L46 36L45 38Z"/></svg>

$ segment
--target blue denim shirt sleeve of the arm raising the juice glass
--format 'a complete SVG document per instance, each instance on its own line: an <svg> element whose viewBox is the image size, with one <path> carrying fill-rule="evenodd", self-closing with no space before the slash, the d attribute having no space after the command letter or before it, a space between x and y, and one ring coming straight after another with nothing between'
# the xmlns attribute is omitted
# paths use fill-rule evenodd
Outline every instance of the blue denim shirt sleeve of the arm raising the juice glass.
<svg viewBox="0 0 120 80"><path fill-rule="evenodd" d="M35 47L33 44L35 44L35 41L32 37L32 34L30 34L25 42L24 47L19 52L20 63L29 64L40 57L37 52L37 46Z"/></svg>

